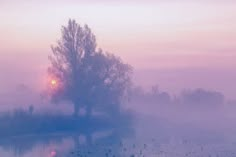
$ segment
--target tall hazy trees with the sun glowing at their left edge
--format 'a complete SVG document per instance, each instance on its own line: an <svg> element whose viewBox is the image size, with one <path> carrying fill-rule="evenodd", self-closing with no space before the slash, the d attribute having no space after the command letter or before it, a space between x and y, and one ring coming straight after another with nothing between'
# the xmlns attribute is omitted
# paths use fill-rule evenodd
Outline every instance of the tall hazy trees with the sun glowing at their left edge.
<svg viewBox="0 0 236 157"><path fill-rule="evenodd" d="M95 35L75 20L62 26L62 36L49 56L48 74L52 78L52 100L67 100L74 104L74 114L80 107L117 110L131 84L132 68L112 54L97 50ZM116 108L116 109L115 109Z"/></svg>

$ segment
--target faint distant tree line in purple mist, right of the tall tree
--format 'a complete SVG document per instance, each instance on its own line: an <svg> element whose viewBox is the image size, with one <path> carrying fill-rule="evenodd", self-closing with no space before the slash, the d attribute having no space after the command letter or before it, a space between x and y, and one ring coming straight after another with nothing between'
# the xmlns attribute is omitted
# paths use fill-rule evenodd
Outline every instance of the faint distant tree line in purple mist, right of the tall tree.
<svg viewBox="0 0 236 157"><path fill-rule="evenodd" d="M168 92L153 86L145 91L142 87L133 87L130 91L131 103L151 103L157 105L188 105L188 106L219 106L225 103L222 93L209 91L202 88L183 90L178 96L172 96Z"/></svg>

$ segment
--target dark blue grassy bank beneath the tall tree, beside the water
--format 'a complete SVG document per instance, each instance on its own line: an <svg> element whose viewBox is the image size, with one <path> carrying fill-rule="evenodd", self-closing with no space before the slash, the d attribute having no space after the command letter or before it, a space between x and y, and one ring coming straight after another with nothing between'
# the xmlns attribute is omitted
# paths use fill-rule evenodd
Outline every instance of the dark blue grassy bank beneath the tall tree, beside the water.
<svg viewBox="0 0 236 157"><path fill-rule="evenodd" d="M124 117L122 118L124 119ZM126 119L127 121L128 119ZM74 117L70 115L30 114L18 112L0 115L0 137L79 132L89 134L101 129L124 125L121 119L104 116ZM122 124L121 124L122 123Z"/></svg>

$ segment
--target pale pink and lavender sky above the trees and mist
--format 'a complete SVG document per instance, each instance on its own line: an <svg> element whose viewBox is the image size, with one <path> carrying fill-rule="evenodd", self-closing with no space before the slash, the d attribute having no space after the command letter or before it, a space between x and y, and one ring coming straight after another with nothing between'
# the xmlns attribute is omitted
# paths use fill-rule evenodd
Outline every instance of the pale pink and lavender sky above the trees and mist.
<svg viewBox="0 0 236 157"><path fill-rule="evenodd" d="M131 64L137 84L236 98L234 0L0 0L0 93L21 84L43 89L50 45L69 18Z"/></svg>

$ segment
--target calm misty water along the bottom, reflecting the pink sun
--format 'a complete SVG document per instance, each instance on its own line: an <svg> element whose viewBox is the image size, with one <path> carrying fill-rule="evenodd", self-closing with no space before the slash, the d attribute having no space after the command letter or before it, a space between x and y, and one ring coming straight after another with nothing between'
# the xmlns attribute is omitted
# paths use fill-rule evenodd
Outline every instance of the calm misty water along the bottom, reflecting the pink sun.
<svg viewBox="0 0 236 157"><path fill-rule="evenodd" d="M1 157L236 157L227 140L190 140L142 129L119 128L82 135L76 132L1 138ZM154 130L155 132L156 130ZM157 134L159 134L157 136Z"/></svg>

